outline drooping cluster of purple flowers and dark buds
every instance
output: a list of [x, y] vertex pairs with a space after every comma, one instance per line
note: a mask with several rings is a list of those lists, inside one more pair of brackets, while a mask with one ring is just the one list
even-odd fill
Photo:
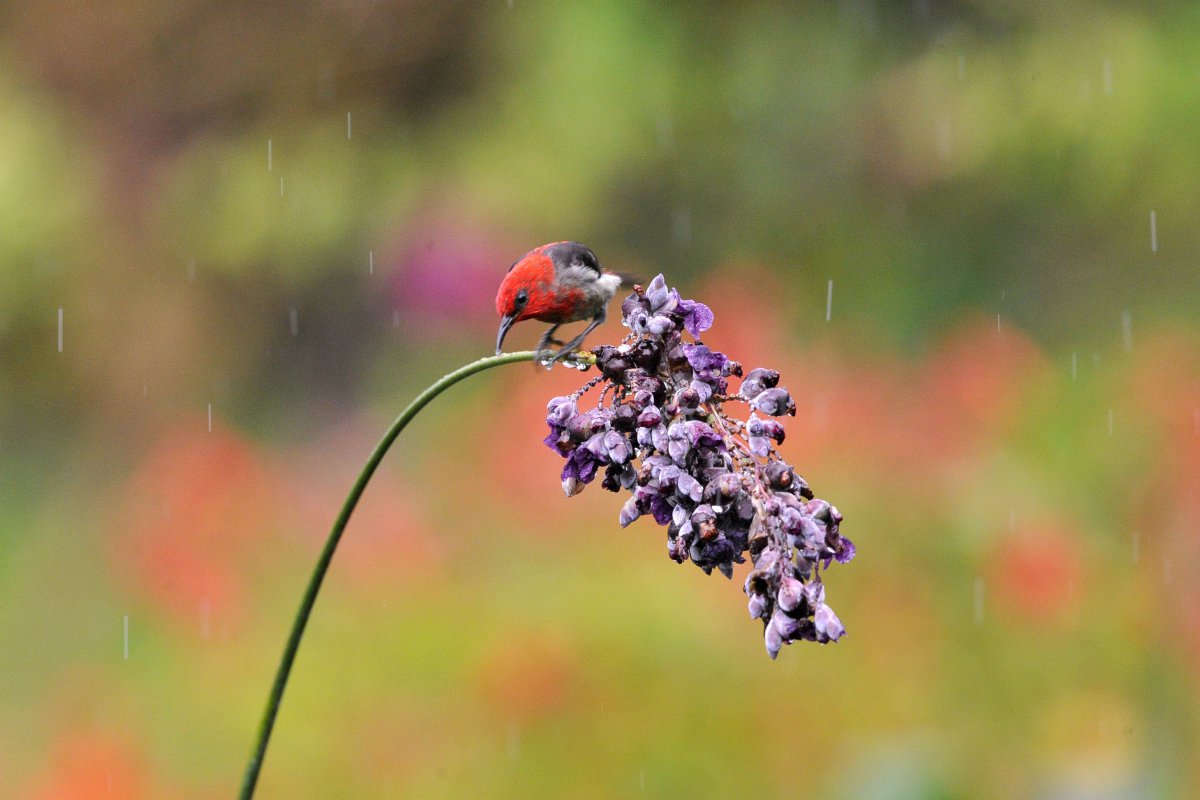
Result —
[[[772, 658], [791, 642], [839, 639], [845, 628], [826, 604], [821, 572], [850, 561], [854, 545], [839, 533], [838, 509], [814, 498], [775, 451], [784, 426], [774, 417], [796, 414], [779, 373], [743, 374], [701, 343], [713, 313], [661, 275], [635, 287], [622, 317], [629, 336], [588, 357], [600, 375], [547, 407], [546, 444], [566, 458], [563, 491], [577, 494], [602, 475], [604, 488], [631, 495], [623, 528], [653, 517], [667, 527], [667, 554], [706, 573], [732, 578], [749, 551], [744, 590]], [[601, 384], [595, 405], [581, 409], [584, 392]], [[731, 403], [744, 403], [748, 417], [727, 414]]]

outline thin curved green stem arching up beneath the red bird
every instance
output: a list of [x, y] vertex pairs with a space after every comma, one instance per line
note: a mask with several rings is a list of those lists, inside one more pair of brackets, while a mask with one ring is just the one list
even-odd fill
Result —
[[342, 539], [342, 531], [346, 530], [346, 523], [349, 522], [350, 515], [354, 512], [354, 507], [359, 504], [359, 498], [362, 497], [362, 492], [371, 481], [371, 476], [374, 475], [376, 468], [379, 467], [379, 462], [383, 461], [384, 453], [386, 453], [388, 449], [391, 447], [391, 443], [396, 440], [400, 432], [408, 426], [412, 419], [416, 416], [430, 401], [450, 386], [457, 384], [463, 378], [469, 378], [476, 372], [491, 369], [492, 367], [499, 367], [505, 363], [533, 360], [534, 353], [532, 350], [522, 353], [505, 353], [502, 355], [480, 359], [479, 361], [474, 361], [455, 369], [418, 395], [416, 399], [409, 403], [408, 408], [406, 408], [401, 415], [396, 417], [396, 421], [391, 423], [388, 432], [384, 433], [383, 438], [379, 440], [379, 444], [377, 444], [374, 450], [371, 452], [371, 457], [367, 459], [362, 471], [359, 473], [358, 480], [354, 481], [354, 487], [350, 488], [350, 493], [347, 495], [346, 503], [342, 504], [342, 511], [337, 515], [332, 530], [329, 531], [329, 539], [325, 541], [325, 547], [320, 551], [320, 558], [317, 559], [317, 566], [312, 571], [312, 577], [308, 578], [308, 587], [305, 589], [304, 599], [300, 601], [300, 610], [296, 612], [295, 621], [292, 622], [292, 632], [288, 634], [288, 643], [283, 648], [283, 657], [280, 658], [280, 667], [275, 673], [275, 682], [271, 685], [271, 693], [266, 698], [266, 710], [263, 712], [263, 721], [258, 726], [258, 738], [254, 742], [254, 752], [251, 754], [250, 763], [246, 765], [246, 775], [242, 778], [241, 793], [238, 795], [240, 800], [250, 800], [254, 796], [254, 787], [258, 783], [258, 772], [263, 766], [263, 757], [266, 754], [266, 744], [271, 739], [271, 729], [275, 727], [275, 717], [280, 711], [280, 702], [283, 699], [283, 690], [288, 684], [288, 675], [292, 673], [292, 663], [295, 661], [296, 650], [300, 649], [300, 638], [304, 636], [305, 626], [308, 624], [308, 615], [312, 613], [313, 603], [317, 602], [317, 593], [320, 591], [320, 584], [325, 579], [325, 572], [329, 570], [329, 563], [334, 558], [334, 551], [337, 548], [337, 542]]

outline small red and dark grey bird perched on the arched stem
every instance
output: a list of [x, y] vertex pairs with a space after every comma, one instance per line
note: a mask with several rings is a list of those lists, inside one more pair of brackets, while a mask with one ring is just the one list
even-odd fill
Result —
[[[500, 354], [514, 324], [540, 319], [551, 326], [538, 342], [538, 360], [542, 361], [551, 344], [560, 348], [548, 363], [566, 357], [604, 323], [608, 301], [623, 279], [624, 276], [601, 270], [596, 254], [576, 241], [552, 242], [529, 251], [509, 267], [496, 295], [496, 311], [500, 314], [496, 354]], [[592, 320], [582, 333], [565, 344], [554, 338], [559, 325], [581, 319]]]

